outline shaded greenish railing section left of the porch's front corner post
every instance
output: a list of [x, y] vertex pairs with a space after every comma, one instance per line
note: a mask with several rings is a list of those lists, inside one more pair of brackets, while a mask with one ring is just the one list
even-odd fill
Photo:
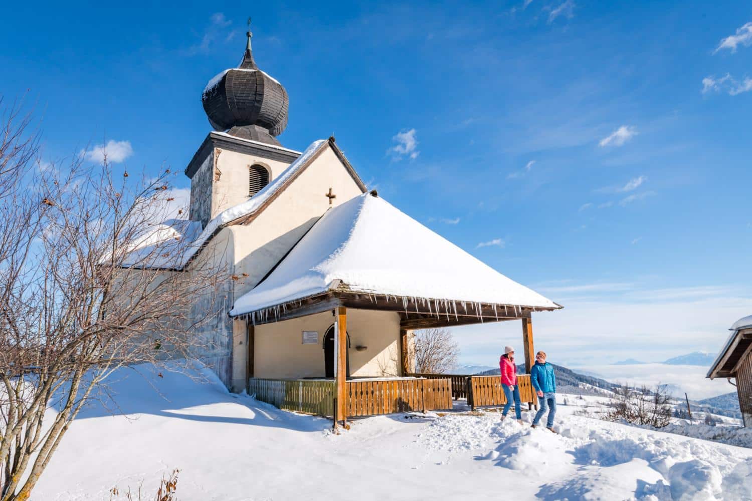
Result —
[[306, 379], [248, 379], [248, 394], [279, 409], [334, 415], [334, 382]]

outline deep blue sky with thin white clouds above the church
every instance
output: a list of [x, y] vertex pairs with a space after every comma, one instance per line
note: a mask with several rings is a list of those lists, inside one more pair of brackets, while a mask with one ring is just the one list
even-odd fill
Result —
[[[566, 306], [533, 321], [558, 361], [715, 352], [752, 313], [749, 2], [17, 4], [0, 94], [47, 158], [112, 140], [182, 171], [249, 15], [281, 142], [335, 134], [396, 207]], [[520, 330], [456, 330], [461, 361]]]

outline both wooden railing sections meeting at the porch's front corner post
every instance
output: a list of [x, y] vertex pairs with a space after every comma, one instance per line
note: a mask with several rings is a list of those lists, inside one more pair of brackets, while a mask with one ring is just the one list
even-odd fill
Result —
[[[248, 379], [248, 394], [280, 409], [334, 415], [334, 382], [307, 379]], [[452, 409], [449, 378], [357, 379], [347, 382], [347, 416]]]

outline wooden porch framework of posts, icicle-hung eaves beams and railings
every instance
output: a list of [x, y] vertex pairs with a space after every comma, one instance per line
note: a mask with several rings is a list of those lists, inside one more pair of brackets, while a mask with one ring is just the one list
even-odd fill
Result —
[[[508, 306], [490, 303], [455, 303], [394, 297], [384, 294], [362, 294], [335, 284], [324, 294], [285, 303], [283, 308], [266, 308], [238, 315], [247, 321], [249, 365], [248, 394], [259, 400], [299, 412], [331, 416], [333, 424], [346, 424], [347, 418], [378, 415], [405, 410], [452, 409], [452, 398], [464, 395], [472, 408], [498, 406], [505, 403], [499, 376], [465, 376], [465, 382], [448, 375], [416, 375], [416, 378], [373, 379], [371, 382], [347, 380], [347, 309], [369, 309], [399, 313], [399, 374], [411, 373], [408, 336], [411, 330], [429, 327], [451, 327], [481, 322], [521, 321], [522, 345], [526, 375], [520, 378], [520, 398], [529, 406], [538, 399], [530, 385], [529, 373], [534, 361], [532, 312], [547, 308]], [[254, 328], [258, 325], [284, 321], [332, 311], [334, 321], [334, 380], [255, 379], [253, 378]], [[460, 376], [462, 377], [462, 376]], [[396, 383], [395, 383], [396, 382]], [[463, 389], [464, 388], [464, 389]]]

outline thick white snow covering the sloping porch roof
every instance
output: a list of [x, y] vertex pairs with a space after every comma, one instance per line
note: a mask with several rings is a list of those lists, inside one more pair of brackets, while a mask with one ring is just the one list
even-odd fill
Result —
[[244, 315], [329, 291], [559, 309], [444, 237], [364, 193], [330, 209], [229, 312]]

